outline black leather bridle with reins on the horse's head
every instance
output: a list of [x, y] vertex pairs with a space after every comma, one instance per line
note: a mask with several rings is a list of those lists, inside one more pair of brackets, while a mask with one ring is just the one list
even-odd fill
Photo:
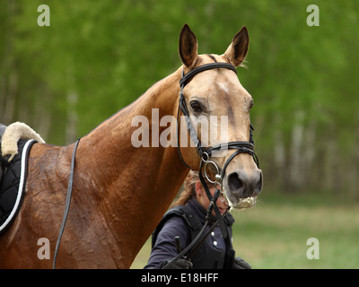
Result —
[[[206, 237], [208, 236], [210, 231], [215, 228], [215, 225], [217, 224], [217, 222], [220, 225], [220, 228], [221, 228], [221, 231], [223, 234], [223, 238], [224, 239], [227, 238], [228, 234], [227, 234], [227, 230], [225, 228], [225, 223], [223, 222], [223, 217], [224, 217], [225, 213], [229, 210], [230, 206], [227, 208], [226, 212], [223, 213], [223, 215], [221, 215], [221, 213], [218, 209], [218, 206], [215, 203], [216, 203], [218, 197], [220, 197], [219, 196], [220, 194], [223, 194], [225, 196], [225, 194], [223, 193], [223, 178], [225, 175], [225, 170], [227, 169], [229, 163], [234, 159], [234, 157], [240, 153], [249, 153], [253, 157], [253, 160], [256, 162], [257, 166], [259, 167], [258, 157], [257, 157], [257, 154], [254, 152], [254, 141], [253, 141], [253, 133], [252, 133], [254, 128], [251, 124], [250, 124], [250, 142], [236, 141], [236, 142], [229, 142], [229, 143], [221, 143], [221, 144], [217, 144], [215, 146], [210, 146], [207, 149], [205, 149], [202, 146], [200, 140], [198, 139], [196, 129], [192, 125], [192, 122], [189, 117], [186, 100], [183, 95], [183, 89], [188, 84], [189, 80], [192, 79], [196, 74], [199, 74], [201, 72], [211, 70], [211, 69], [229, 69], [229, 70], [232, 70], [235, 74], [237, 74], [236, 68], [233, 65], [227, 64], [227, 63], [210, 63], [210, 64], [206, 64], [206, 65], [201, 65], [201, 66], [198, 66], [197, 68], [191, 70], [190, 72], [188, 72], [188, 74], [184, 74], [184, 70], [182, 70], [182, 77], [180, 79], [179, 109], [177, 112], [177, 148], [178, 148], [178, 152], [180, 154], [181, 161], [188, 167], [189, 170], [192, 170], [188, 166], [186, 161], [183, 159], [183, 156], [180, 152], [180, 136], [179, 136], [179, 133], [180, 133], [180, 131], [179, 131], [180, 130], [180, 128], [179, 128], [179, 126], [180, 126], [180, 111], [182, 112], [183, 116], [185, 117], [188, 134], [189, 134], [192, 142], [195, 143], [198, 155], [201, 158], [201, 161], [199, 164], [198, 176], [199, 176], [199, 179], [200, 179], [203, 187], [205, 188], [206, 196], [208, 196], [208, 199], [210, 201], [210, 204], [209, 204], [209, 207], [207, 210], [207, 215], [206, 215], [206, 223], [203, 226], [202, 230], [197, 235], [196, 239], [194, 239], [188, 245], [187, 248], [182, 250], [177, 257], [174, 257], [171, 260], [171, 262], [168, 265], [166, 265], [167, 267], [169, 267], [171, 263], [179, 260], [181, 257], [186, 256], [187, 258], [190, 258], [193, 255], [193, 253], [197, 250], [197, 248], [200, 246], [200, 244], [202, 244], [204, 242], [204, 240], [206, 239]], [[233, 152], [232, 155], [227, 159], [227, 161], [224, 162], [222, 172], [220, 172], [220, 169], [217, 166], [217, 164], [215, 163], [215, 161], [211, 161], [210, 158], [211, 158], [212, 152], [223, 151], [223, 150], [227, 150], [227, 149], [232, 149], [232, 150], [236, 150], [236, 151]], [[206, 172], [208, 164], [212, 164], [215, 167], [215, 170], [217, 172], [215, 175], [215, 180], [209, 178], [209, 176]], [[211, 193], [209, 191], [209, 187], [206, 184], [206, 180], [203, 177], [203, 173], [202, 173], [203, 167], [204, 167], [206, 179], [215, 185], [215, 195], [214, 196], [211, 195]], [[220, 188], [217, 188], [217, 187], [220, 187]], [[215, 211], [215, 217], [216, 217], [217, 221], [215, 222], [215, 224], [213, 224], [213, 226], [210, 228], [210, 230], [208, 230], [205, 233], [205, 229], [209, 224], [210, 215], [213, 210]], [[163, 268], [166, 268], [166, 266], [164, 266]]]

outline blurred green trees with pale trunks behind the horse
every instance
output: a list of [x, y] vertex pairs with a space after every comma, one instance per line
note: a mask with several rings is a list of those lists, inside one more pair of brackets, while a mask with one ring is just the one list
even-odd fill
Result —
[[[319, 27], [306, 23], [309, 4]], [[0, 122], [72, 143], [180, 66], [185, 22], [199, 52], [214, 54], [246, 25], [239, 78], [256, 103], [265, 191], [357, 199], [358, 11], [355, 0], [1, 0]]]

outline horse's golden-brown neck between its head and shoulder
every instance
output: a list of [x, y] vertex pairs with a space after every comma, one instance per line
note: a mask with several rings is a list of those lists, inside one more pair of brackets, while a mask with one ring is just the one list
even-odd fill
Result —
[[[121, 244], [138, 252], [178, 193], [188, 169], [176, 147], [139, 147], [131, 143], [138, 128], [132, 119], [144, 116], [151, 123], [153, 109], [159, 118], [175, 116], [180, 92], [179, 69], [155, 83], [142, 97], [85, 136], [79, 144], [76, 169], [106, 211]], [[153, 122], [153, 125], [156, 123]], [[152, 126], [153, 127], [153, 126]], [[162, 129], [160, 127], [159, 134]], [[176, 128], [172, 125], [171, 128]], [[153, 129], [150, 128], [150, 137]], [[152, 141], [150, 141], [152, 144]], [[76, 163], [77, 164], [77, 163]], [[128, 224], [130, 222], [130, 224]], [[120, 235], [119, 235], [120, 233]], [[123, 248], [126, 249], [126, 248]]]

